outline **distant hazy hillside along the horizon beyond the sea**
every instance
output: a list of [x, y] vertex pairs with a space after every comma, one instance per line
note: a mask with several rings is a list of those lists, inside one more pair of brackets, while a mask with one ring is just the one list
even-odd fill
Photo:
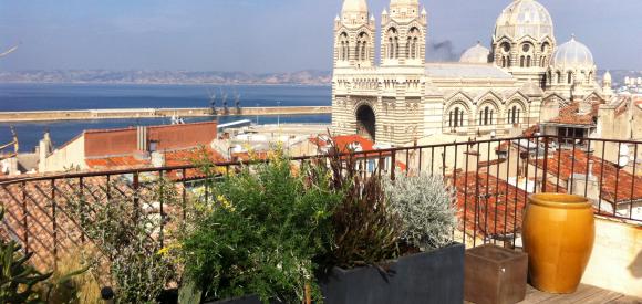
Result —
[[89, 84], [306, 84], [329, 85], [331, 72], [250, 74], [244, 72], [187, 71], [19, 71], [1, 72], [0, 83], [89, 83]]

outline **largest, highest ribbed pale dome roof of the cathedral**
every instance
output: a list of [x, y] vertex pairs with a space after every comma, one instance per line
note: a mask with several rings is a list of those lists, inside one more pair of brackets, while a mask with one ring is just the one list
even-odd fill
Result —
[[550, 13], [536, 0], [515, 0], [501, 11], [495, 25], [495, 40], [505, 35], [514, 40], [525, 36], [555, 39]]

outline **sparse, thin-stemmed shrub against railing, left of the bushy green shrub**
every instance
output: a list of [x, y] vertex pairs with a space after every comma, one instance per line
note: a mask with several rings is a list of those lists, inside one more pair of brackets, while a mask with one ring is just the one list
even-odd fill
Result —
[[[102, 253], [91, 261], [92, 272], [114, 285], [120, 303], [154, 303], [176, 277], [177, 265], [172, 256], [159, 254], [163, 248], [155, 234], [163, 220], [151, 203], [163, 201], [166, 210], [175, 208], [180, 201], [176, 188], [165, 179], [149, 180], [137, 192], [124, 180], [100, 187], [108, 196], [96, 201], [95, 193], [77, 190], [68, 195], [73, 199], [65, 206]], [[167, 228], [165, 233], [169, 240]]]

